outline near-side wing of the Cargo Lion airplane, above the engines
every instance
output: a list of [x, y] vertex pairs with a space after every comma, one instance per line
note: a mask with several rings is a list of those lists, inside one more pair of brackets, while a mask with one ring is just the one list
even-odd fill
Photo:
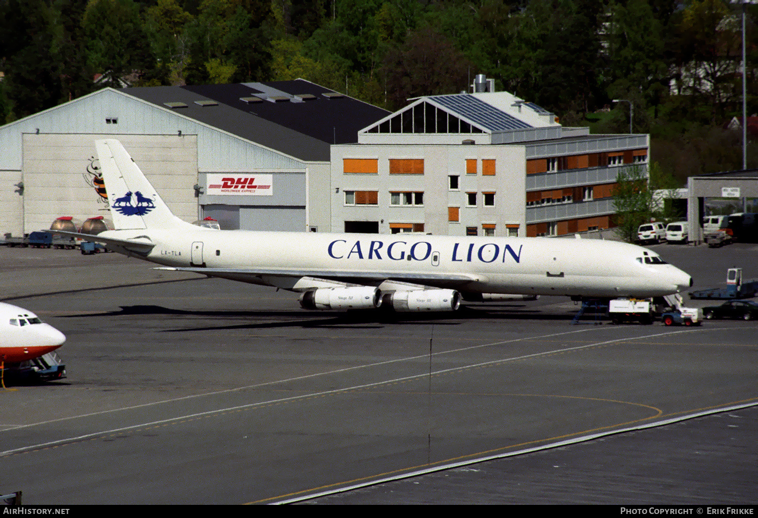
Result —
[[[470, 282], [480, 282], [484, 279], [478, 275], [467, 275], [465, 273], [428, 273], [428, 272], [376, 272], [366, 270], [287, 270], [284, 268], [192, 268], [192, 267], [158, 267], [154, 270], [173, 270], [177, 272], [202, 273], [207, 276], [218, 277], [287, 277], [287, 278], [312, 278], [318, 282], [318, 279], [332, 280], [338, 282], [352, 282], [360, 285], [378, 285], [385, 280], [398, 280], [402, 282], [412, 282], [415, 284], [428, 286], [465, 286]], [[318, 287], [314, 285], [314, 287]], [[300, 289], [306, 286], [299, 284]]]

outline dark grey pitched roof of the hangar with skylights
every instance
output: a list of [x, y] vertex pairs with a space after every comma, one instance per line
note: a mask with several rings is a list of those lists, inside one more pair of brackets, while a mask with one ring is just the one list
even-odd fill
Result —
[[[329, 161], [331, 144], [358, 142], [358, 130], [390, 114], [305, 80], [122, 91], [302, 161]], [[246, 102], [240, 98], [263, 100]], [[202, 106], [196, 101], [218, 104], [206, 102]], [[186, 107], [169, 108], [165, 103], [170, 102]]]

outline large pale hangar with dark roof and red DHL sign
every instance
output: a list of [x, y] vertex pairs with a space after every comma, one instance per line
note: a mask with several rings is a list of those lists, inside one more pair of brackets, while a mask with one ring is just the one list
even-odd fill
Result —
[[102, 138], [121, 140], [183, 220], [329, 230], [330, 145], [387, 114], [305, 80], [102, 89], [0, 126], [0, 231], [107, 217], [92, 163]]

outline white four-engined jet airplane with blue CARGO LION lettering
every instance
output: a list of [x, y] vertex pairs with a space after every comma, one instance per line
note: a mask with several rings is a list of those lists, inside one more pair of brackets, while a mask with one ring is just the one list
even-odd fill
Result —
[[461, 296], [653, 297], [692, 285], [653, 251], [621, 242], [202, 228], [171, 214], [121, 142], [95, 145], [116, 229], [57, 233], [104, 243], [163, 270], [299, 292], [306, 309], [384, 303], [399, 311], [456, 310]]

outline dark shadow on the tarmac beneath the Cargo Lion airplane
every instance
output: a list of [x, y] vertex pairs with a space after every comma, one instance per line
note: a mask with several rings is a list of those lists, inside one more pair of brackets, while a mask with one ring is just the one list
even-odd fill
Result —
[[[524, 304], [486, 305], [486, 306], [462, 306], [460, 310], [453, 312], [429, 312], [429, 313], [396, 313], [392, 310], [347, 310], [337, 314], [324, 314], [322, 311], [309, 310], [261, 310], [261, 311], [224, 311], [224, 310], [177, 310], [158, 305], [134, 305], [121, 306], [121, 310], [77, 315], [77, 317], [124, 317], [127, 315], [175, 315], [186, 316], [187, 320], [194, 318], [240, 320], [244, 318], [274, 319], [273, 322], [261, 323], [236, 323], [232, 325], [199, 326], [183, 329], [164, 329], [162, 332], [188, 332], [188, 331], [211, 331], [217, 329], [262, 329], [277, 327], [302, 327], [302, 328], [344, 328], [352, 329], [380, 329], [385, 324], [416, 325], [436, 323], [446, 326], [457, 326], [459, 320], [572, 320], [573, 314], [542, 314], [540, 310], [525, 309]], [[584, 317], [593, 319], [593, 315]], [[289, 320], [295, 319], [295, 320]]]

